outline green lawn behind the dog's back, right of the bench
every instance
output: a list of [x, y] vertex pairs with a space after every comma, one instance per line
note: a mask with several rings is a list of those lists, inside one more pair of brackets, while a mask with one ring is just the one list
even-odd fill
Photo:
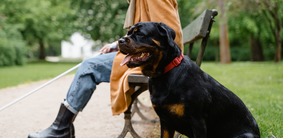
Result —
[[[234, 92], [250, 110], [262, 138], [283, 137], [283, 64], [204, 62], [201, 69]], [[183, 138], [185, 138], [183, 136]]]

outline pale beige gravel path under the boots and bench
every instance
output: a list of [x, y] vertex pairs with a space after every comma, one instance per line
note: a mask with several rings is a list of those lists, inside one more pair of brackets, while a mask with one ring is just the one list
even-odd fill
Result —
[[[0, 138], [26, 138], [49, 127], [55, 120], [60, 103], [64, 101], [74, 75], [64, 76], [43, 89], [22, 99], [0, 112]], [[0, 107], [28, 93], [46, 81], [39, 81], [0, 90]], [[145, 105], [151, 106], [148, 91], [139, 96]], [[112, 116], [110, 84], [97, 86], [89, 103], [75, 119], [76, 138], [116, 138], [124, 128], [124, 114]], [[158, 118], [152, 109], [144, 109], [148, 118]], [[135, 114], [133, 128], [142, 137], [159, 137], [159, 124], [144, 123]], [[130, 138], [128, 133], [127, 138]]]

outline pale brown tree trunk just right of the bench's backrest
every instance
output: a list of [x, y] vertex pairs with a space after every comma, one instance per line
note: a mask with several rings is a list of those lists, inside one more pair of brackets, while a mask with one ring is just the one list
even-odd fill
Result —
[[228, 30], [227, 30], [227, 18], [225, 14], [225, 0], [217, 0], [217, 4], [220, 8], [221, 14], [219, 16], [219, 44], [220, 44], [220, 61], [221, 64], [231, 63], [230, 57], [230, 44], [228, 40]]

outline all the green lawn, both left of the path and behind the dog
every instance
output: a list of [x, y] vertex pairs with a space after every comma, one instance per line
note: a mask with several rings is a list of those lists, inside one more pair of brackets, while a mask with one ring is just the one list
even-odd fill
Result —
[[[77, 64], [40, 62], [1, 67], [0, 89], [53, 78]], [[256, 119], [262, 138], [271, 137], [271, 131], [276, 138], [283, 137], [283, 63], [204, 62], [201, 69], [242, 99]]]

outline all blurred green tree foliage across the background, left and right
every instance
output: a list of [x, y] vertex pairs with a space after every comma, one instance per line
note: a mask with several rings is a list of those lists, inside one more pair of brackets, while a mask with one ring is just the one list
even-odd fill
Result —
[[[177, 2], [182, 28], [196, 19], [205, 9], [219, 9], [216, 0], [177, 0]], [[282, 1], [278, 3], [282, 24]], [[60, 55], [61, 41], [68, 41], [74, 32], [80, 32], [84, 37], [95, 40], [93, 50], [98, 50], [106, 43], [112, 43], [126, 34], [127, 30], [123, 29], [123, 24], [128, 6], [126, 0], [2, 0], [0, 16], [5, 20], [0, 23], [0, 28], [3, 30], [4, 23], [12, 24], [16, 28], [15, 31], [21, 32], [22, 37], [13, 39], [19, 43], [25, 42], [23, 45], [29, 46], [24, 48], [29, 51], [29, 58], [39, 57], [40, 43], [44, 45], [45, 55]], [[273, 60], [275, 39], [267, 17], [263, 14], [262, 3], [252, 0], [227, 0], [225, 9], [227, 9], [225, 16], [228, 18], [232, 60], [250, 60], [250, 36], [260, 40], [265, 59]], [[272, 18], [270, 14], [267, 16]], [[215, 60], [215, 52], [219, 52], [219, 15], [215, 20], [204, 60]], [[271, 26], [274, 27], [274, 24]], [[4, 43], [4, 40], [2, 41], [1, 43]], [[193, 48], [192, 59], [198, 53], [198, 45], [200, 42]], [[185, 53], [186, 49], [187, 47]], [[5, 55], [15, 54], [13, 50], [8, 51], [11, 53]]]

